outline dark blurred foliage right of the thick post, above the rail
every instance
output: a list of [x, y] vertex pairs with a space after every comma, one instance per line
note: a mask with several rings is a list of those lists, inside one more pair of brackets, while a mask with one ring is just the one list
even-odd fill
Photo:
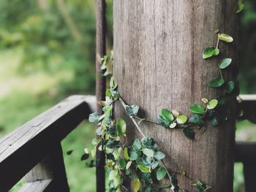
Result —
[[239, 13], [238, 79], [241, 93], [256, 93], [256, 1], [244, 5]]

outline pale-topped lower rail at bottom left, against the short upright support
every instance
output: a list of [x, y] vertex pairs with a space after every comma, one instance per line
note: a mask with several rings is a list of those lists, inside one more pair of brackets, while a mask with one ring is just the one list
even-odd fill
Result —
[[26, 183], [19, 192], [50, 192], [50, 185], [52, 182], [52, 180], [39, 180], [31, 183]]

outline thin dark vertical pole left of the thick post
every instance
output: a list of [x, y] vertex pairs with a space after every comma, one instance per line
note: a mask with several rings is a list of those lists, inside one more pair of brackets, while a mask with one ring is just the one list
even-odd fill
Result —
[[[96, 10], [96, 96], [97, 101], [105, 101], [106, 79], [103, 76], [101, 58], [106, 54], [106, 18], [105, 0], [97, 0]], [[97, 104], [97, 112], [102, 112], [102, 107]], [[105, 191], [105, 153], [97, 150], [96, 185], [97, 192]]]

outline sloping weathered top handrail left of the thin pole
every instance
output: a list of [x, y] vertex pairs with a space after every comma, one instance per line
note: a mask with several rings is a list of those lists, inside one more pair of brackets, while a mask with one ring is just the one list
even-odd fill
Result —
[[91, 110], [84, 99], [70, 96], [0, 139], [0, 191], [15, 185], [56, 142], [89, 117]]

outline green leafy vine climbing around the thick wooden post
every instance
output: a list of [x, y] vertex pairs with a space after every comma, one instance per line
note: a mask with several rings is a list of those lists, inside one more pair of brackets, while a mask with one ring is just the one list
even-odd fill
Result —
[[[234, 12], [238, 13], [244, 8], [242, 0], [238, 0]], [[217, 45], [206, 47], [203, 50], [203, 58], [211, 58], [219, 55], [219, 42], [233, 42], [233, 38], [228, 34], [214, 31], [217, 34]], [[177, 110], [162, 109], [157, 116], [156, 121], [148, 120], [138, 116], [140, 107], [138, 105], [128, 105], [117, 91], [117, 84], [111, 76], [113, 67], [113, 55], [104, 56], [102, 58], [101, 69], [105, 70], [105, 76], [109, 75], [109, 88], [106, 91], [106, 101], [98, 101], [102, 105], [102, 113], [94, 112], [89, 116], [89, 121], [97, 123], [97, 138], [92, 140], [94, 149], [91, 155], [96, 154], [96, 150], [103, 150], [106, 156], [106, 167], [108, 168], [108, 190], [113, 191], [145, 191], [155, 192], [162, 191], [165, 188], [170, 191], [179, 191], [178, 180], [176, 175], [180, 174], [190, 180], [190, 185], [195, 186], [197, 191], [208, 191], [210, 185], [203, 183], [200, 179], [192, 179], [188, 176], [184, 169], [169, 170], [165, 166], [165, 153], [158, 150], [157, 143], [153, 138], [147, 137], [140, 123], [154, 123], [164, 128], [182, 129], [184, 136], [192, 140], [195, 138], [195, 131], [201, 133], [205, 131], [204, 124], [210, 121], [211, 126], [216, 127], [219, 123], [225, 123], [229, 116], [227, 111], [227, 98], [231, 94], [237, 95], [238, 89], [233, 80], [226, 81], [222, 71], [230, 66], [231, 58], [223, 58], [217, 68], [219, 77], [208, 82], [211, 88], [219, 88], [222, 95], [217, 99], [208, 100], [201, 99], [203, 104], [192, 104], [189, 110], [192, 116], [187, 118]], [[132, 145], [127, 145], [124, 138], [127, 137], [127, 125], [123, 118], [117, 120], [113, 115], [113, 108], [116, 101], [121, 103], [125, 112], [135, 128], [140, 132], [141, 139], [135, 139]], [[121, 140], [123, 142], [121, 142]], [[86, 150], [87, 152], [87, 150]], [[88, 152], [87, 152], [88, 153]], [[124, 185], [124, 178], [132, 181], [132, 187], [128, 188]], [[168, 181], [165, 179], [167, 178]], [[164, 180], [164, 184], [160, 185], [159, 181]]]

